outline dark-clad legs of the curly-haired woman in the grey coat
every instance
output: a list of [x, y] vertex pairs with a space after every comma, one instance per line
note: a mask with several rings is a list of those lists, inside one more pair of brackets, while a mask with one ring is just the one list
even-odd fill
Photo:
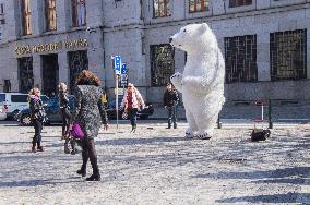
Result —
[[97, 161], [97, 153], [95, 148], [94, 138], [83, 138], [82, 140], [82, 159], [83, 164], [81, 170], [86, 171], [86, 165], [88, 159], [91, 160], [91, 165], [93, 168], [93, 174], [99, 174], [98, 161]]

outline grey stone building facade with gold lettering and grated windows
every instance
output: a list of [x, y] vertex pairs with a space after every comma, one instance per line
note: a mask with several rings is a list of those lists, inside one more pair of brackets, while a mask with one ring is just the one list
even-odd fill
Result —
[[[169, 37], [206, 22], [225, 56], [227, 100], [310, 99], [310, 0], [2, 1], [0, 91], [5, 81], [12, 92], [38, 85], [51, 94], [58, 82], [72, 84], [90, 69], [114, 98], [111, 56], [120, 55], [146, 101], [162, 102], [169, 75], [186, 63]], [[56, 23], [47, 23], [47, 8]], [[31, 34], [24, 31], [27, 17]]]

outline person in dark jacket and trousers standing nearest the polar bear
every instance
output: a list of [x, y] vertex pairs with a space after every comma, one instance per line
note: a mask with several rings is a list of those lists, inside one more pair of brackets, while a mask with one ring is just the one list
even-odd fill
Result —
[[164, 106], [168, 110], [168, 129], [177, 129], [177, 106], [179, 104], [179, 95], [177, 89], [171, 83], [167, 83], [167, 87], [164, 94]]

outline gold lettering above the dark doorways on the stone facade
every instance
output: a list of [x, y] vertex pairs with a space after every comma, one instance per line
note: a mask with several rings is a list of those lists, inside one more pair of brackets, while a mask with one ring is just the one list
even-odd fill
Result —
[[87, 47], [87, 39], [73, 39], [68, 41], [50, 43], [50, 44], [37, 44], [34, 46], [15, 46], [14, 50], [17, 56], [36, 53], [36, 52], [50, 52], [61, 49], [74, 49]]

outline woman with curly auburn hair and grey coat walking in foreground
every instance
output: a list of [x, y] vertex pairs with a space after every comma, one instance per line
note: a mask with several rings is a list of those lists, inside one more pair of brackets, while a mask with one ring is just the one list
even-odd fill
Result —
[[[91, 71], [83, 70], [78, 76], [75, 91], [75, 108], [73, 121], [82, 128], [85, 137], [81, 140], [82, 167], [76, 172], [86, 176], [86, 165], [88, 159], [93, 168], [93, 174], [86, 181], [100, 181], [100, 173], [97, 164], [97, 153], [95, 148], [95, 137], [98, 135], [102, 123], [108, 130], [107, 114], [102, 102], [102, 88], [99, 79]], [[72, 129], [72, 124], [71, 124]]]

